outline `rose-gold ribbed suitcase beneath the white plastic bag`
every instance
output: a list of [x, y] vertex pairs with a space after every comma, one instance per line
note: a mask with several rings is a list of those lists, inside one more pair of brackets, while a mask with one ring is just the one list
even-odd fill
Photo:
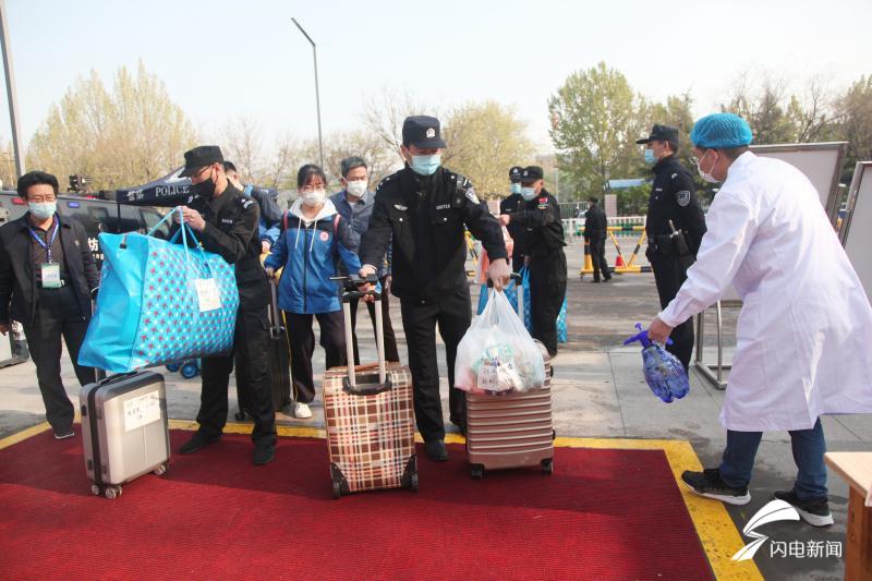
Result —
[[467, 457], [474, 479], [482, 479], [485, 469], [540, 467], [546, 474], [554, 470], [554, 370], [548, 350], [535, 343], [545, 361], [542, 389], [505, 396], [467, 394]]

